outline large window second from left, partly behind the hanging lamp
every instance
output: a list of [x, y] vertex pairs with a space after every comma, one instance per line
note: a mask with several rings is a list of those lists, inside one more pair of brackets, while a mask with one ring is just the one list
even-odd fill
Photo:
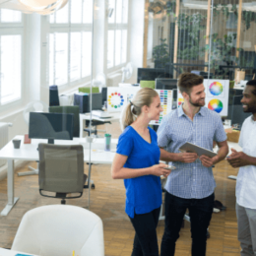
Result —
[[93, 0], [71, 0], [50, 16], [49, 85], [84, 82], [92, 71]]

